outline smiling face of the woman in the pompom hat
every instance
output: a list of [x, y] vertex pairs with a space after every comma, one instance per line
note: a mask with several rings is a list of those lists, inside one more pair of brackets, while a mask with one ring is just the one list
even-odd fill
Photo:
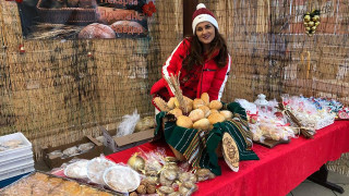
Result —
[[215, 38], [215, 27], [209, 22], [202, 22], [196, 25], [195, 29], [196, 36], [198, 40], [203, 45], [210, 44], [212, 40]]

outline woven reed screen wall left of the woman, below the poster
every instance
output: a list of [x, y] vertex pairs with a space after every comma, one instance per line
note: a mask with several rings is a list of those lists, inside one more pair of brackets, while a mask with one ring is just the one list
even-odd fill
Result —
[[183, 37], [181, 1], [155, 4], [147, 38], [26, 40], [16, 3], [1, 0], [0, 135], [23, 132], [39, 158], [43, 145], [98, 135], [97, 124], [115, 125], [135, 109], [154, 115], [149, 88]]

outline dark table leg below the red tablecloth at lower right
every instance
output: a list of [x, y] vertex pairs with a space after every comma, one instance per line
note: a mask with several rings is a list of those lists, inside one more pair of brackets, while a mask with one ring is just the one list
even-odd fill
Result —
[[322, 185], [324, 187], [327, 187], [332, 191], [338, 192], [340, 194], [345, 193], [344, 188], [341, 186], [338, 186], [337, 184], [330, 183], [327, 181], [328, 170], [326, 164], [322, 166], [318, 171], [313, 173], [308, 177], [308, 180]]

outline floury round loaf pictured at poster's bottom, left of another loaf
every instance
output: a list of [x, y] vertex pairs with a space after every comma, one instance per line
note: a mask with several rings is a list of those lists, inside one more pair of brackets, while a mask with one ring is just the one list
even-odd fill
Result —
[[80, 33], [79, 33], [80, 39], [93, 39], [93, 38], [116, 38], [116, 33], [112, 28], [108, 25], [99, 24], [99, 23], [93, 23], [87, 26], [85, 26]]

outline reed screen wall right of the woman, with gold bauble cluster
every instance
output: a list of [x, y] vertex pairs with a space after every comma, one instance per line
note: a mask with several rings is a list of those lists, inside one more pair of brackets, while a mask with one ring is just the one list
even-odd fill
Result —
[[[263, 93], [326, 96], [349, 103], [349, 2], [346, 0], [202, 0], [218, 17], [232, 54], [225, 101]], [[315, 36], [303, 14], [321, 10]], [[309, 56], [310, 54], [310, 56]], [[303, 61], [302, 61], [303, 59]], [[328, 162], [349, 175], [349, 154]]]

